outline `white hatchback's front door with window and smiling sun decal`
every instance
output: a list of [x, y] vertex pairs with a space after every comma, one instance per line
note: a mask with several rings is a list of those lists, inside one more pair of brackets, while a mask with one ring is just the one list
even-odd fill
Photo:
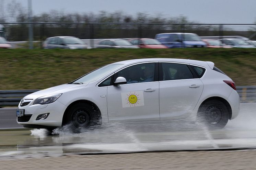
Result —
[[136, 64], [119, 70], [126, 84], [107, 88], [109, 122], [160, 120], [158, 63]]

